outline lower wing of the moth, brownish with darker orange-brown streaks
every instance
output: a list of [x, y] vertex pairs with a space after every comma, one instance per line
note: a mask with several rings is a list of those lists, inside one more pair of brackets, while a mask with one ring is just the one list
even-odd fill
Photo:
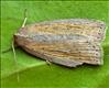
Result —
[[15, 36], [15, 41], [28, 53], [41, 57], [43, 59], [68, 66], [75, 67], [84, 63], [100, 65], [101, 61], [101, 47], [97, 43], [87, 42], [87, 37], [73, 35], [72, 40], [61, 37], [62, 41], [55, 38], [58, 36], [45, 36], [25, 38], [22, 36]]

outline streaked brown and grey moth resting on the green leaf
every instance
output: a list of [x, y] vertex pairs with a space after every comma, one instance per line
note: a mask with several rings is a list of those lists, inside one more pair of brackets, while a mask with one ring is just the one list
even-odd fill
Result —
[[58, 65], [102, 65], [105, 35], [102, 21], [65, 19], [25, 25], [14, 34], [14, 43], [25, 52]]

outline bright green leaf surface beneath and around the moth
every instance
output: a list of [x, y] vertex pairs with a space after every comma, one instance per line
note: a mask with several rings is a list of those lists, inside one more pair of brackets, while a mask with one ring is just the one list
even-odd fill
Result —
[[[11, 47], [13, 34], [21, 28], [24, 9], [28, 23], [56, 19], [98, 19], [109, 26], [109, 1], [1, 1], [1, 51]], [[2, 88], [108, 88], [109, 29], [102, 43], [102, 66], [83, 65], [67, 68], [46, 65], [37, 57], [15, 48], [18, 67], [12, 51], [1, 54]], [[19, 81], [18, 76], [19, 75]]]

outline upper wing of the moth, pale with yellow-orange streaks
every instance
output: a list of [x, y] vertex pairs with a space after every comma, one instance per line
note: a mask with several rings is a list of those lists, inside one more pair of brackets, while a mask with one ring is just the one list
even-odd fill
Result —
[[19, 32], [23, 32], [26, 35], [36, 33], [84, 35], [90, 41], [101, 42], [105, 38], [106, 24], [99, 20], [87, 19], [55, 20], [31, 24]]

